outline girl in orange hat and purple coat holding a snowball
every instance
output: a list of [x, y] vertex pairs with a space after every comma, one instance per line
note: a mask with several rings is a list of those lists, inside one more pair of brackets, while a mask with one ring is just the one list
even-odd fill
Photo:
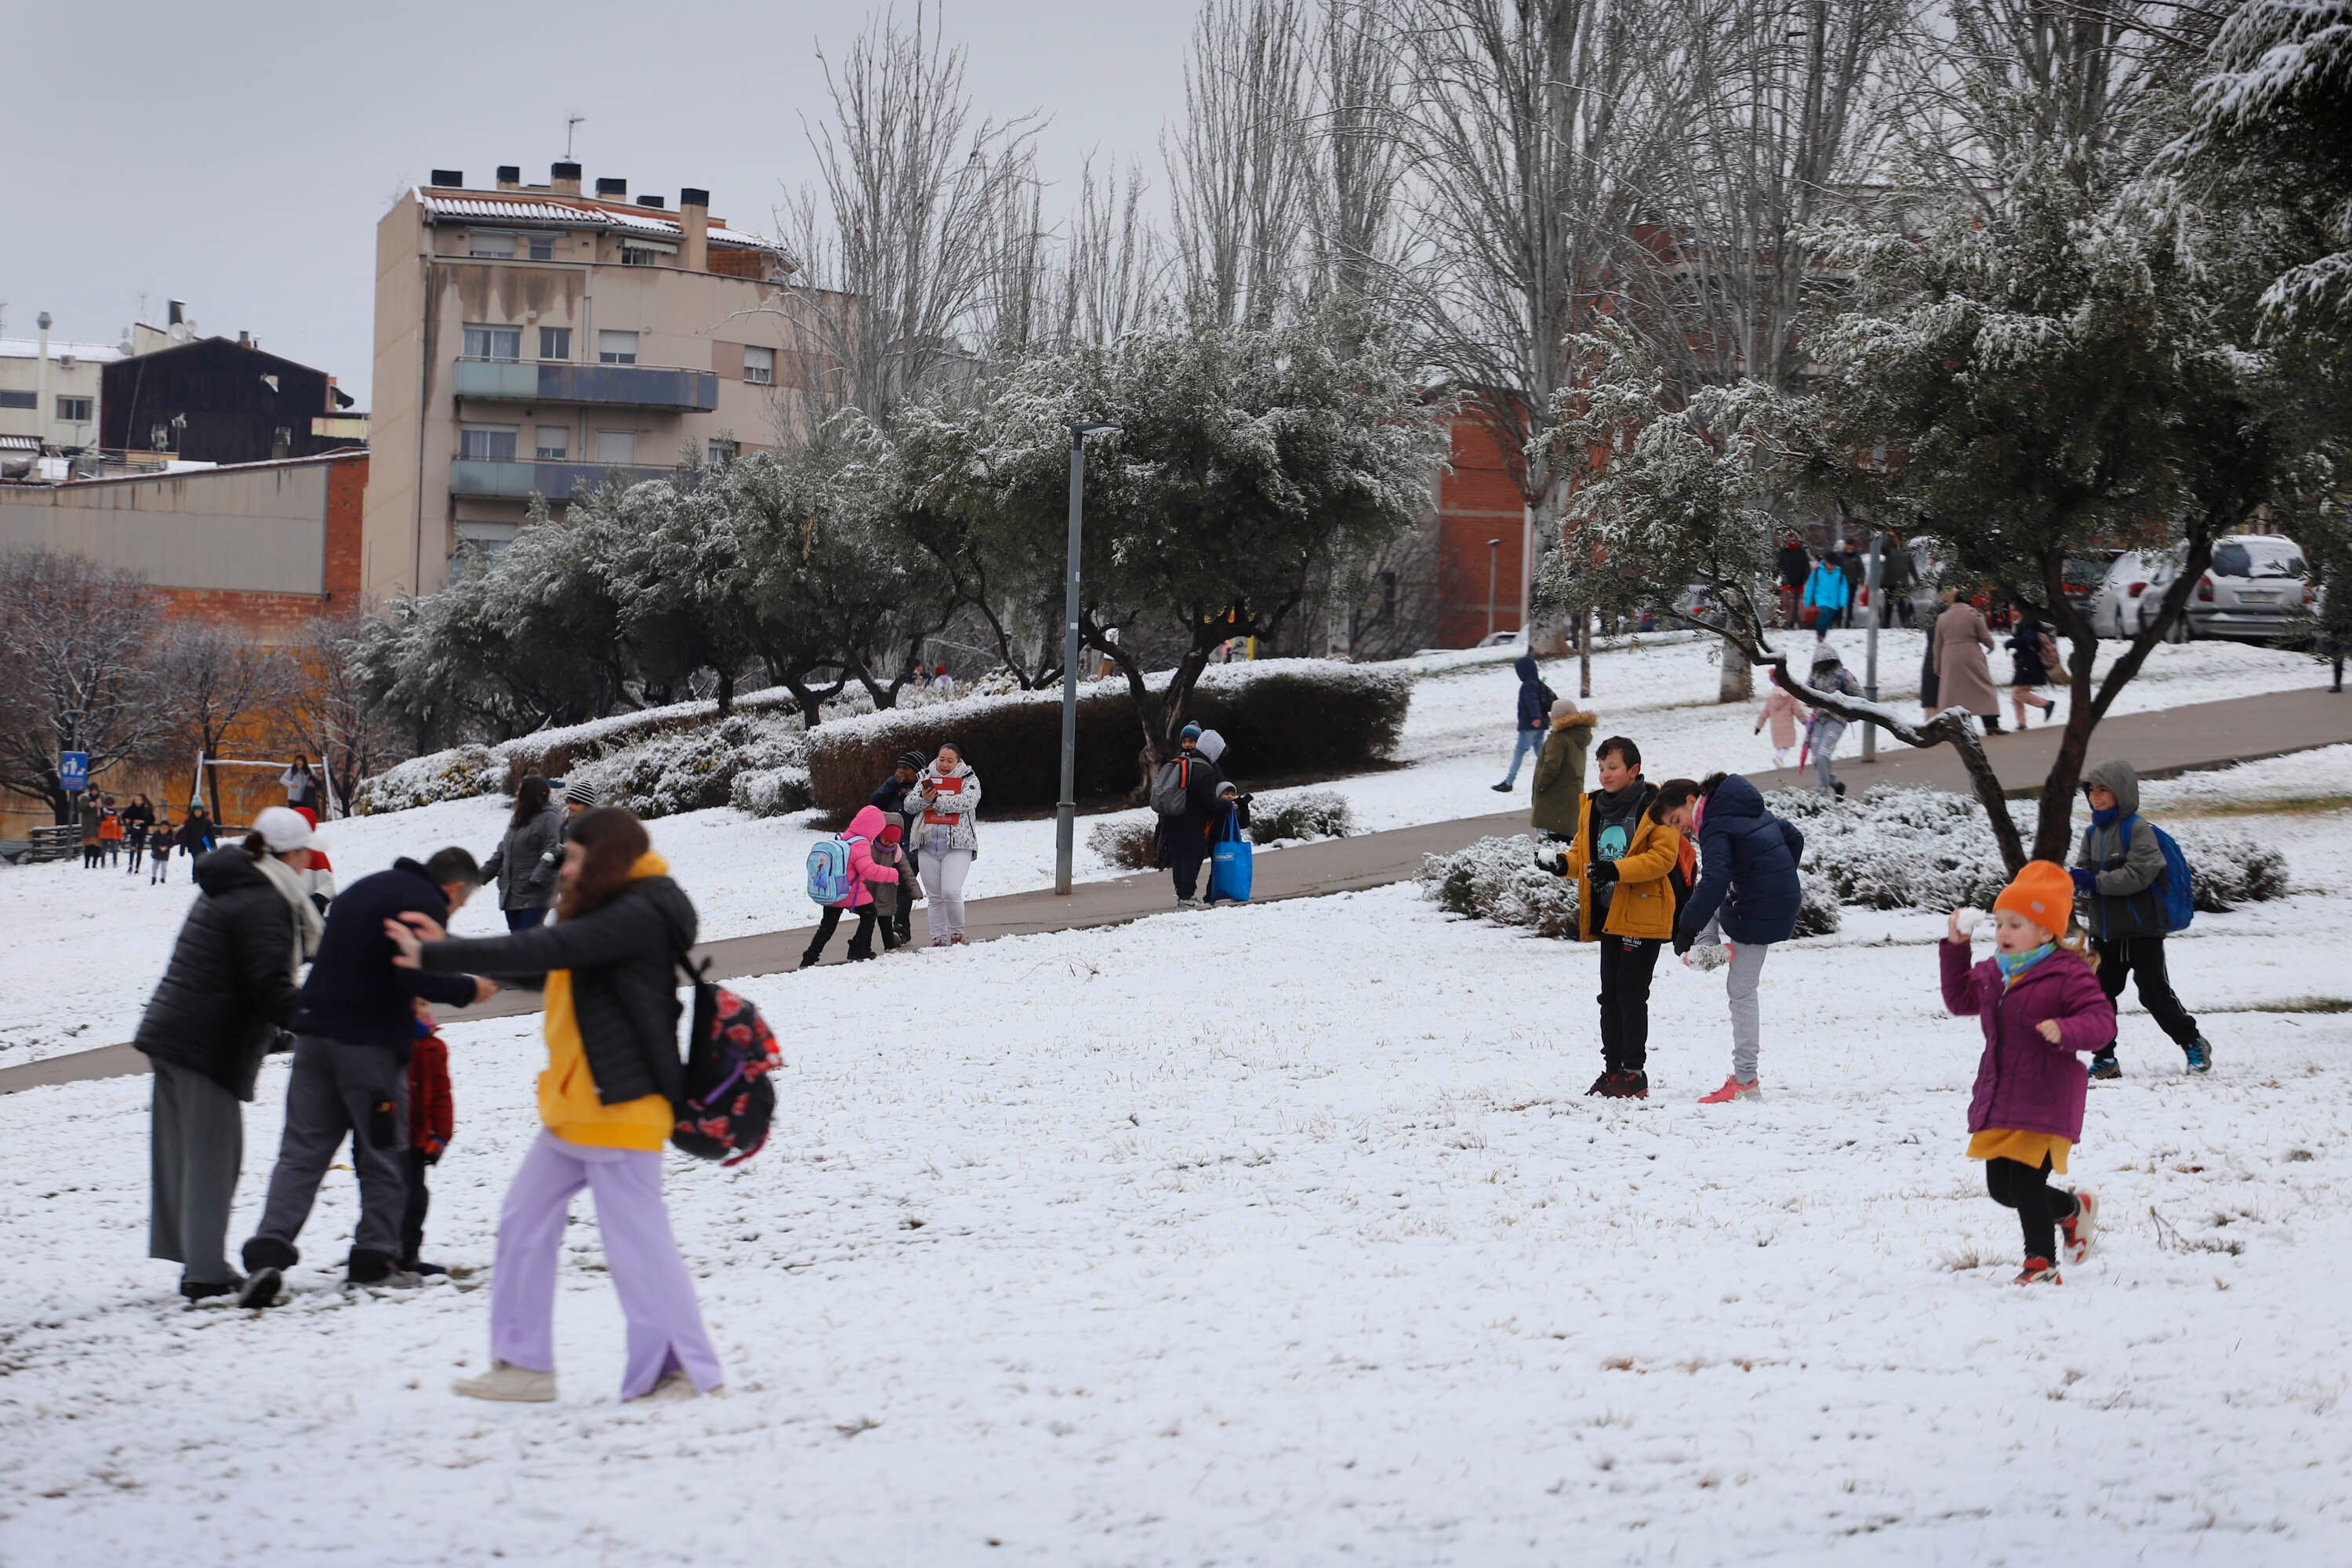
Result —
[[2098, 1199], [2049, 1185], [2065, 1175], [2082, 1138], [2079, 1051], [2114, 1037], [2114, 1004], [2098, 985], [2074, 929], [2074, 882], [2056, 860], [2027, 860], [1992, 900], [1992, 957], [1971, 969], [1976, 910], [1952, 910], [1943, 961], [1943, 1004], [1985, 1027], [1985, 1056], [1969, 1098], [1969, 1159], [1985, 1161], [1992, 1201], [2018, 1211], [2025, 1269], [2016, 1284], [2058, 1284], [2058, 1232], [2067, 1262], [2091, 1253]]

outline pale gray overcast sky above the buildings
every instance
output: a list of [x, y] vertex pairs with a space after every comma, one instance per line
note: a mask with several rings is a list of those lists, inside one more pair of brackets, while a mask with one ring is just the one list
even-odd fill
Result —
[[[769, 230], [779, 188], [811, 176], [816, 45], [840, 54], [866, 9], [21, 0], [0, 45], [0, 320], [33, 336], [49, 310], [54, 336], [111, 343], [141, 294], [153, 322], [183, 299], [205, 331], [252, 331], [367, 407], [376, 219], [405, 186], [435, 167], [489, 186], [501, 162], [546, 181], [579, 113], [588, 181], [673, 207], [703, 186], [715, 214]], [[1101, 148], [1143, 158], [1162, 190], [1190, 21], [1188, 0], [946, 7], [974, 106], [1051, 115], [1051, 179]]]

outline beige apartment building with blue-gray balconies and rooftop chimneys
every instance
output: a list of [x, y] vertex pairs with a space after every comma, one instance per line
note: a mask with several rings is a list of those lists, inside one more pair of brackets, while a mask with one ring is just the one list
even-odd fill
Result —
[[376, 367], [362, 583], [433, 592], [461, 541], [496, 550], [532, 496], [659, 477], [776, 442], [795, 360], [764, 308], [790, 259], [710, 216], [710, 193], [524, 186], [456, 169], [376, 223]]

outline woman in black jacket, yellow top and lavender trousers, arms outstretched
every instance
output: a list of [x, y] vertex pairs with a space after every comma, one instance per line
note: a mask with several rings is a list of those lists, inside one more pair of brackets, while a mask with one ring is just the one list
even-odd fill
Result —
[[555, 1399], [555, 1262], [572, 1199], [588, 1187], [628, 1319], [621, 1399], [694, 1399], [727, 1382], [661, 1201], [661, 1150], [684, 1098], [677, 961], [694, 945], [694, 903], [619, 806], [572, 825], [560, 889], [555, 924], [510, 936], [383, 922], [409, 973], [475, 971], [546, 992], [539, 1138], [499, 1208], [489, 1371], [456, 1392]]

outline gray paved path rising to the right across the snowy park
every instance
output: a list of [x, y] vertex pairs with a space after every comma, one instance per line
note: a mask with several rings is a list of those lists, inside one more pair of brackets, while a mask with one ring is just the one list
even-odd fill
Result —
[[[2314, 668], [2314, 679], [2319, 670]], [[1672, 736], [1639, 736], [1644, 748], [1658, 757], [1672, 755]], [[1653, 743], [1656, 741], [1656, 743]], [[2107, 719], [2091, 738], [2096, 757], [2129, 757], [2140, 778], [2171, 778], [2199, 769], [2281, 757], [2314, 745], [2352, 741], [2352, 693], [2331, 696], [2324, 686], [2307, 691], [2281, 691], [2272, 696], [2232, 698], [2225, 703], [2194, 703], [2164, 712], [2136, 712]], [[1860, 741], [1849, 731], [1849, 752], [1837, 764], [1839, 778], [1863, 792], [1870, 785], [1926, 785], [1936, 790], [1966, 790], [1969, 780], [1952, 748], [1910, 750], [1882, 736], [1879, 759], [1860, 762]], [[1992, 736], [1987, 752], [2002, 783], [2011, 790], [2030, 790], [2042, 783], [2051, 757], [2058, 752], [2058, 729], [2037, 726], [2025, 733]], [[1750, 773], [1766, 790], [1804, 785], [1811, 773], [1795, 769], [1773, 773]], [[1395, 827], [1390, 832], [1367, 832], [1352, 839], [1327, 839], [1298, 844], [1258, 856], [1254, 898], [1272, 903], [1284, 898], [1322, 898], [1324, 893], [1348, 893], [1369, 886], [1409, 879], [1423, 856], [1442, 856], [1463, 849], [1489, 835], [1526, 832], [1526, 809], [1515, 806], [1491, 816], [1456, 818], [1449, 823], [1423, 823], [1418, 827]], [[985, 856], [981, 875], [985, 877]], [[1000, 936], [1035, 936], [1040, 931], [1075, 931], [1082, 926], [1120, 926], [1148, 914], [1164, 914], [1171, 907], [1167, 872], [1136, 872], [1112, 882], [1082, 882], [1068, 898], [1051, 891], [1002, 893], [997, 898], [974, 898], [964, 910], [964, 924], [976, 943]], [[790, 931], [757, 931], [720, 943], [706, 943], [699, 952], [713, 959], [717, 978], [769, 976], [793, 969], [807, 947], [814, 924]], [[915, 943], [927, 940], [924, 912], [915, 912]], [[844, 933], [835, 938], [830, 961], [840, 961]], [[920, 957], [891, 959], [896, 964], [920, 964]], [[466, 1009], [459, 1018], [508, 1018], [536, 1013], [534, 992], [503, 992], [487, 1006]], [[40, 1063], [0, 1067], [0, 1093], [38, 1088], [45, 1084], [78, 1084], [85, 1079], [108, 1079], [146, 1072], [146, 1058], [129, 1046], [99, 1046], [94, 1051], [71, 1051]]]

